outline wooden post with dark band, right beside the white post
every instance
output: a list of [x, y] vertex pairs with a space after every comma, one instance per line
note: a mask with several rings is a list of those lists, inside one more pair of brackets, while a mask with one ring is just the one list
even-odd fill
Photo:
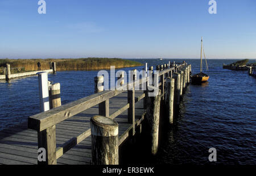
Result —
[[61, 106], [60, 83], [49, 85], [49, 108]]

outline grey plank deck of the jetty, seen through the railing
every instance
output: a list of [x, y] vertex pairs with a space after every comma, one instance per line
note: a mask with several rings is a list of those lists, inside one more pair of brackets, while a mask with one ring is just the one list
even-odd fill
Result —
[[[142, 91], [137, 91], [135, 97], [141, 97]], [[112, 115], [119, 108], [127, 104], [127, 92], [110, 98], [109, 113]], [[143, 100], [135, 103], [135, 119], [144, 118]], [[61, 121], [56, 125], [56, 145], [63, 146], [65, 142], [73, 137], [79, 136], [90, 129], [90, 118], [98, 114], [98, 106], [89, 108]], [[114, 119], [119, 125], [119, 139], [127, 135], [131, 125], [127, 123], [127, 110]], [[38, 164], [38, 134], [27, 128], [27, 122], [3, 129], [0, 131], [0, 164]], [[64, 153], [58, 158], [57, 164], [89, 165], [91, 162], [91, 139], [90, 136], [78, 145]]]

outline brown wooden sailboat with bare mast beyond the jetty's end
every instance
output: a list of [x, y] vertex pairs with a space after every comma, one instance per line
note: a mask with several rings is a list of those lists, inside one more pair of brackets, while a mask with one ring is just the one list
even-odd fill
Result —
[[[205, 73], [202, 72], [202, 51], [204, 52], [204, 48], [203, 48], [203, 37], [201, 38], [201, 64], [200, 64], [200, 73], [194, 74], [191, 79], [192, 79], [192, 83], [201, 83], [201, 82], [206, 82], [209, 79], [209, 76]], [[204, 58], [205, 58], [205, 54], [204, 54]], [[205, 63], [207, 66], [207, 70], [208, 70], [208, 65], [207, 65], [207, 60], [205, 58]]]

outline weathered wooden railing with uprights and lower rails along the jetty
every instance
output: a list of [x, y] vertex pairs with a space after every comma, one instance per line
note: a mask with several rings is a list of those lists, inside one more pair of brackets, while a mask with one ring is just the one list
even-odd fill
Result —
[[[174, 72], [178, 72], [181, 69], [184, 69], [187, 64], [167, 64], [166, 66], [156, 67], [156, 70], [159, 70], [158, 76], [160, 77], [160, 89], [162, 95], [164, 95], [164, 82], [166, 77], [172, 77]], [[151, 72], [152, 66], [150, 67]], [[154, 74], [154, 77], [156, 74]], [[38, 131], [38, 148], [46, 149], [46, 162], [38, 162], [38, 164], [56, 164], [57, 158], [61, 157], [65, 152], [71, 149], [73, 146], [79, 144], [86, 137], [91, 135], [91, 129], [86, 130], [81, 133], [79, 136], [74, 137], [67, 141], [63, 146], [56, 148], [56, 124], [61, 121], [71, 118], [72, 116], [79, 114], [82, 111], [88, 110], [88, 108], [94, 107], [99, 104], [99, 115], [106, 116], [110, 119], [114, 119], [118, 115], [122, 114], [124, 111], [128, 110], [128, 121], [131, 123], [130, 129], [135, 133], [135, 127], [142, 123], [143, 118], [135, 121], [135, 103], [141, 99], [147, 99], [147, 94], [144, 91], [141, 96], [135, 97], [135, 85], [150, 81], [151, 77], [144, 77], [141, 79], [135, 79], [134, 82], [127, 83], [122, 85], [127, 87], [127, 104], [122, 108], [119, 108], [113, 114], [109, 115], [109, 99], [115, 97], [125, 90], [104, 90], [93, 95], [90, 95], [85, 98], [81, 98], [71, 103], [64, 104], [63, 106], [53, 108], [49, 111], [42, 112], [30, 116], [28, 118], [28, 128]], [[133, 87], [133, 89], [129, 89]], [[146, 106], [146, 101], [144, 101], [144, 107]], [[100, 106], [101, 104], [101, 106]], [[128, 133], [125, 133], [119, 137], [119, 145], [129, 136]]]

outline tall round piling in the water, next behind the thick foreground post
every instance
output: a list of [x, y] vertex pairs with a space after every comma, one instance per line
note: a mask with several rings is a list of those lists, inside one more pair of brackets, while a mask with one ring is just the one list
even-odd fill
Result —
[[150, 127], [151, 154], [158, 152], [158, 133], [159, 133], [159, 115], [160, 115], [161, 90], [159, 89], [156, 97], [148, 97], [146, 119]]

